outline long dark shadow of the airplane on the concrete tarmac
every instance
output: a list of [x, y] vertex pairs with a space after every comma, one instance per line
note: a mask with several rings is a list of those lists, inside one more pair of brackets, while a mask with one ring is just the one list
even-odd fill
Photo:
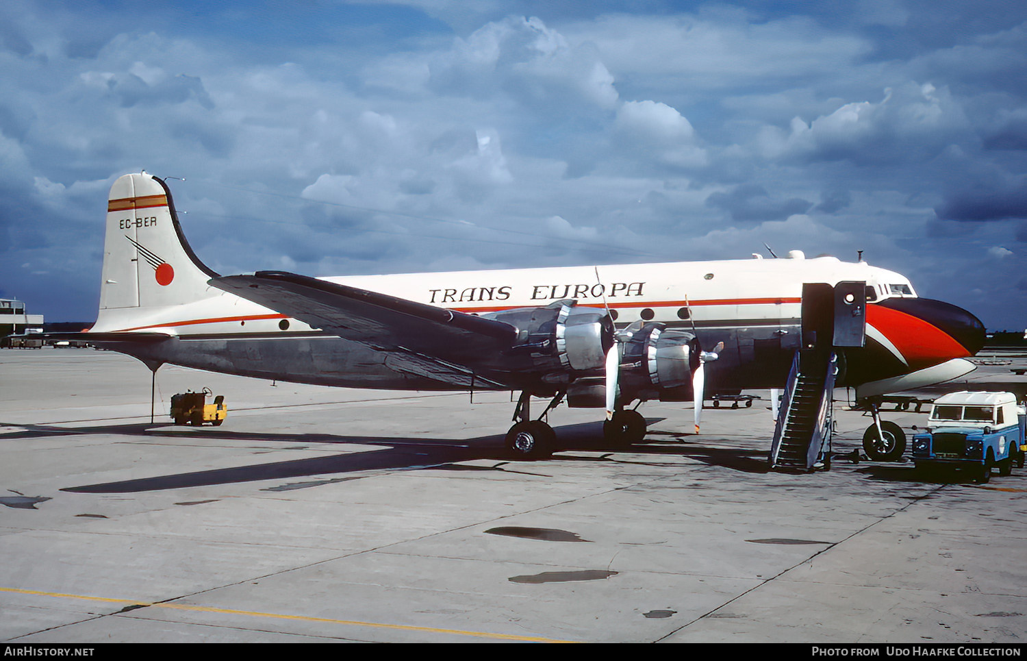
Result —
[[[662, 418], [650, 418], [650, 424]], [[424, 468], [445, 468], [459, 462], [471, 460], [495, 460], [503, 462], [509, 457], [503, 447], [503, 437], [492, 435], [472, 439], [424, 439], [404, 437], [341, 436], [335, 434], [260, 434], [232, 432], [214, 428], [177, 429], [152, 425], [110, 425], [77, 427], [74, 429], [47, 426], [18, 426], [25, 431], [5, 434], [6, 440], [16, 438], [40, 438], [62, 435], [112, 434], [118, 436], [181, 438], [202, 441], [253, 441], [266, 444], [303, 443], [382, 445], [383, 449], [371, 451], [344, 452], [330, 456], [315, 456], [302, 460], [271, 462], [252, 466], [212, 469], [174, 475], [86, 484], [66, 487], [63, 491], [79, 493], [127, 493], [190, 486], [210, 486], [258, 480], [295, 479], [317, 476], [316, 481], [307, 485], [340, 481], [332, 475], [345, 475], [359, 471], [418, 470]], [[556, 461], [599, 462], [617, 461], [619, 454], [631, 453], [633, 463], [645, 463], [645, 455], [682, 456], [711, 466], [721, 466], [744, 473], [766, 473], [766, 452], [747, 448], [709, 447], [692, 441], [690, 435], [653, 432], [645, 442], [631, 448], [611, 448], [602, 440], [602, 427], [597, 423], [569, 425], [558, 428], [559, 441]], [[668, 439], [668, 440], [661, 440]], [[568, 455], [561, 451], [603, 451], [600, 456]], [[183, 448], [188, 451], [188, 448]], [[642, 456], [640, 456], [642, 455]], [[532, 462], [509, 462], [499, 467], [451, 467], [462, 470], [508, 470], [532, 472]], [[520, 470], [519, 470], [520, 467]], [[353, 478], [343, 478], [353, 479]], [[282, 487], [282, 488], [288, 488]], [[299, 487], [297, 487], [299, 488]]]

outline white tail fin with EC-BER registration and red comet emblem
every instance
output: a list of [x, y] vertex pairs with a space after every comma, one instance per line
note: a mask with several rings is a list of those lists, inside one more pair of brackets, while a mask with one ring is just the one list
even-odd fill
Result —
[[211, 295], [206, 281], [218, 273], [186, 242], [163, 181], [147, 173], [125, 175], [108, 199], [101, 319], [105, 310], [181, 305]]

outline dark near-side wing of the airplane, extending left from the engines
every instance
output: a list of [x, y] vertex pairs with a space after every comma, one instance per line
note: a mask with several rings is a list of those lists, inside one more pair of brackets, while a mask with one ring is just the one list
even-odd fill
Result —
[[454, 385], [505, 385], [478, 372], [518, 338], [504, 322], [295, 273], [258, 271], [210, 284], [383, 352], [397, 371]]

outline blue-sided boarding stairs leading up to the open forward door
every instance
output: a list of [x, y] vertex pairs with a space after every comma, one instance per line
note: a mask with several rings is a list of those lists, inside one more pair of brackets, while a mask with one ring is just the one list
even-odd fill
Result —
[[798, 351], [792, 361], [774, 424], [770, 470], [809, 472], [830, 468], [832, 406], [838, 357]]

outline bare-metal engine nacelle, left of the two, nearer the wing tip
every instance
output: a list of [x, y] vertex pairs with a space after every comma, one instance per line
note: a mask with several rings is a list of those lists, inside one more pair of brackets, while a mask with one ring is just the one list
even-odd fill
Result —
[[556, 362], [554, 368], [581, 372], [601, 368], [613, 346], [613, 322], [594, 307], [577, 307], [561, 300], [545, 307], [521, 307], [486, 315], [515, 326], [515, 348], [531, 352], [536, 363]]

